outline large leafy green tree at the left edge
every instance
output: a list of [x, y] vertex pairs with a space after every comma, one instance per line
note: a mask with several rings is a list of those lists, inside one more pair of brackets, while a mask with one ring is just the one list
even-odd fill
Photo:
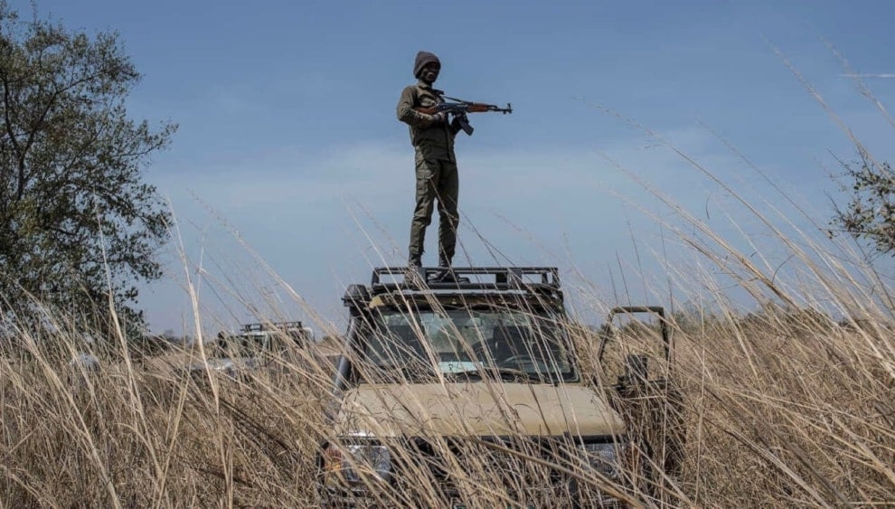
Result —
[[136, 285], [161, 276], [169, 212], [141, 170], [176, 125], [128, 118], [140, 78], [118, 33], [25, 21], [0, 0], [2, 315], [143, 324]]

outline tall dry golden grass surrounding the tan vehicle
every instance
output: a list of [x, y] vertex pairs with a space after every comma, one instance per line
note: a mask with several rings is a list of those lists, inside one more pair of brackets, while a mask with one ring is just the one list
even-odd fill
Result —
[[[655, 498], [638, 496], [635, 504], [895, 504], [895, 323], [891, 306], [878, 297], [889, 288], [853, 256], [847, 265], [866, 270], [866, 280], [877, 285], [871, 292], [854, 269], [845, 269], [841, 252], [822, 249], [811, 235], [793, 239], [745, 203], [785, 246], [790, 265], [800, 264], [798, 286], [787, 286], [772, 264], [765, 268], [742, 255], [656, 196], [701, 239], [671, 224], [669, 231], [694, 256], [736, 278], [763, 310], [744, 316], [717, 291], [701, 297], [713, 312], [674, 315], [683, 465]], [[695, 281], [692, 268], [667, 269], [683, 293], [718, 287], [709, 277]], [[617, 304], [596, 296], [583, 301], [597, 310]], [[796, 304], [816, 302], [844, 319]], [[3, 339], [0, 359], [3, 506], [317, 503], [314, 461], [318, 444], [332, 438], [326, 419], [332, 402], [331, 366], [316, 347], [275, 359], [273, 375], [234, 382], [179, 371], [201, 359], [199, 350], [144, 359], [121, 342], [95, 352], [99, 372], [83, 372], [68, 365], [84, 347], [75, 339], [83, 332], [76, 324], [57, 324], [52, 335], [29, 333], [21, 324], [3, 328], [18, 331]], [[600, 373], [595, 343], [579, 344], [587, 371]], [[468, 466], [455, 467], [482, 500], [510, 502], [499, 472], [473, 475], [461, 468]], [[596, 476], [580, 478], [603, 485]], [[423, 480], [378, 495], [398, 504], [436, 504], [430, 487]]]

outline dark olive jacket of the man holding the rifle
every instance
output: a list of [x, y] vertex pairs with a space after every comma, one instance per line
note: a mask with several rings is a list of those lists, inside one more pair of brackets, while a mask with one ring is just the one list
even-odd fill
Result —
[[433, 126], [431, 115], [413, 109], [435, 106], [442, 102], [443, 93], [422, 81], [405, 87], [400, 93], [398, 119], [410, 126], [410, 145], [416, 149], [418, 159], [455, 161], [454, 137], [460, 130], [457, 123]]

